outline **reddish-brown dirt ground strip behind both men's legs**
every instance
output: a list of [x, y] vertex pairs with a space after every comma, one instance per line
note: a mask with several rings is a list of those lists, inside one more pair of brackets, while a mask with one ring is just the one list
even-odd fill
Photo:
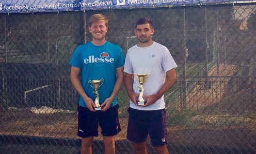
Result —
[[[1, 111], [0, 135], [79, 139], [76, 113], [35, 114], [31, 111]], [[168, 126], [171, 146], [243, 147], [256, 150], [256, 120], [238, 119], [225, 125], [216, 117], [191, 117], [193, 124]], [[199, 123], [200, 118], [209, 123]], [[228, 117], [230, 120], [230, 118]], [[120, 119], [122, 131], [116, 140], [126, 139], [127, 119]], [[219, 125], [219, 126], [218, 126]], [[99, 130], [100, 131], [100, 130]], [[99, 136], [95, 140], [102, 140]]]

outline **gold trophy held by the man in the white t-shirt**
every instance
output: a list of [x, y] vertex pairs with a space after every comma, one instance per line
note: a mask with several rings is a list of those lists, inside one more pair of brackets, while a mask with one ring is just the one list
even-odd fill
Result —
[[145, 105], [147, 100], [144, 100], [144, 98], [143, 98], [143, 94], [144, 94], [143, 84], [145, 83], [145, 81], [147, 81], [149, 79], [150, 73], [147, 73], [147, 74], [134, 73], [133, 75], [134, 75], [134, 78], [136, 75], [138, 76], [139, 83], [140, 83], [140, 85], [138, 85], [140, 93], [139, 93], [139, 97], [137, 98], [137, 103], [138, 103], [138, 105]]

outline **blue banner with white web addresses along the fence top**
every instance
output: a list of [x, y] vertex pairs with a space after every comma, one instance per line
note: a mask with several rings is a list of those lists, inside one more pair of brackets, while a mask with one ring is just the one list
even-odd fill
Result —
[[95, 1], [1, 1], [0, 13], [23, 13], [23, 12], [58, 12], [58, 11], [83, 11], [83, 10], [106, 10], [106, 9], [131, 9], [131, 8], [154, 8], [171, 6], [195, 6], [212, 4], [232, 3], [255, 3], [256, 1], [193, 1], [193, 0], [95, 0]]

